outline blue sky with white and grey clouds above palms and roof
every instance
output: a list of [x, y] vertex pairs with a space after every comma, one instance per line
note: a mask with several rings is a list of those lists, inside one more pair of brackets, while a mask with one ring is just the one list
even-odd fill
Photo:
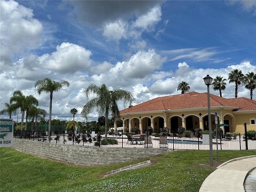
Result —
[[[228, 79], [234, 69], [256, 72], [256, 1], [0, 3], [1, 109], [21, 90], [49, 111], [49, 95], [33, 88], [46, 77], [70, 82], [54, 93], [53, 118], [72, 120], [76, 108], [82, 121], [82, 90], [89, 83], [128, 90], [135, 105], [180, 94], [181, 81], [190, 92], [206, 92], [207, 74]], [[226, 83], [222, 96], [234, 98], [234, 84]], [[238, 91], [250, 98], [243, 85]], [[94, 112], [89, 120], [97, 118]]]

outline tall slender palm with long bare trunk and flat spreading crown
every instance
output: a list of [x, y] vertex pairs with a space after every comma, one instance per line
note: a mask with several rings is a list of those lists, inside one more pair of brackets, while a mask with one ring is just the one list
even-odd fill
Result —
[[[49, 126], [48, 131], [51, 131], [51, 123], [52, 123], [52, 95], [53, 92], [57, 92], [64, 88], [64, 86], [69, 86], [70, 83], [68, 81], [61, 80], [58, 81], [52, 81], [50, 78], [45, 78], [43, 80], [38, 80], [35, 82], [34, 87], [37, 87], [37, 92], [40, 95], [42, 92], [50, 93], [50, 109], [49, 109]], [[50, 140], [50, 134], [49, 134], [49, 140]]]

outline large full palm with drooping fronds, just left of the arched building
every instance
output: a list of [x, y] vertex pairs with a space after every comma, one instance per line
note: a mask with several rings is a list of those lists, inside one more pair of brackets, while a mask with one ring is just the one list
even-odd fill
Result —
[[129, 103], [132, 105], [133, 95], [132, 93], [121, 89], [110, 91], [105, 84], [102, 84], [101, 86], [89, 84], [88, 87], [84, 88], [84, 95], [88, 99], [90, 94], [96, 94], [96, 98], [88, 101], [82, 108], [81, 115], [87, 120], [88, 115], [94, 108], [96, 108], [99, 116], [102, 116], [102, 114], [105, 113], [105, 139], [107, 139], [109, 112], [114, 114], [116, 118], [120, 118], [117, 102], [122, 100], [124, 104]]

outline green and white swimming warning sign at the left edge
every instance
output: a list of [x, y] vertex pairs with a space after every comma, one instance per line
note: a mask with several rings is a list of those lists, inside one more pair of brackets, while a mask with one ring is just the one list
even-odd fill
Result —
[[0, 118], [0, 147], [13, 145], [13, 119]]

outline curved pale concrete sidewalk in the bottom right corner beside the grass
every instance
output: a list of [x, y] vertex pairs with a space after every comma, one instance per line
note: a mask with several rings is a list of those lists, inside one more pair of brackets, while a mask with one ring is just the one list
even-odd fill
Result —
[[199, 192], [244, 192], [244, 180], [255, 167], [256, 155], [229, 160], [204, 180]]

